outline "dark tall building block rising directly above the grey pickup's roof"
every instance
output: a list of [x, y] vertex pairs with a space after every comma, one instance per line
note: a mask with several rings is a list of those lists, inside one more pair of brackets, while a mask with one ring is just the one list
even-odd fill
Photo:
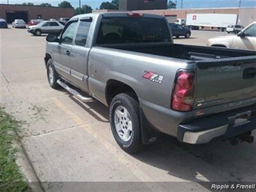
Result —
[[166, 9], [167, 0], [119, 0], [119, 10], [161, 10]]

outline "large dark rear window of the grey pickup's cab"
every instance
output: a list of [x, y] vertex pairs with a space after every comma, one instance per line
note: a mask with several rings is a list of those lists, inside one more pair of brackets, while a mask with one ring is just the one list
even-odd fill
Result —
[[170, 41], [165, 20], [147, 17], [104, 17], [97, 36], [97, 44]]

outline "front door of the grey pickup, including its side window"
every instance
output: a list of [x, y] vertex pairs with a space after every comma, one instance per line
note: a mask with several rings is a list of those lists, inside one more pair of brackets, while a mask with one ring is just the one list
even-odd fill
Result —
[[57, 51], [60, 55], [60, 63], [54, 63], [54, 66], [63, 78], [70, 79], [70, 58], [73, 56], [71, 54], [72, 44], [74, 40], [74, 33], [76, 30], [77, 21], [72, 21], [65, 26], [63, 33], [60, 37], [60, 44], [58, 44]]

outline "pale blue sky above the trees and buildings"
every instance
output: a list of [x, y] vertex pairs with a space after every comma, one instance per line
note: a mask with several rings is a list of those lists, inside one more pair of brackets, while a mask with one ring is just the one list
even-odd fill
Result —
[[[6, 4], [8, 0], [0, 0], [0, 3]], [[10, 4], [28, 3], [34, 4], [51, 3], [52, 6], [58, 6], [63, 0], [9, 0]], [[75, 8], [79, 6], [79, 0], [66, 0], [69, 1]], [[88, 4], [93, 9], [99, 8], [103, 1], [111, 0], [81, 0], [81, 4]], [[173, 0], [174, 2], [176, 0]], [[181, 1], [177, 0], [177, 8], [181, 8]], [[218, 8], [218, 7], [238, 7], [240, 0], [183, 0], [183, 8]], [[241, 0], [241, 7], [256, 7], [256, 0]]]

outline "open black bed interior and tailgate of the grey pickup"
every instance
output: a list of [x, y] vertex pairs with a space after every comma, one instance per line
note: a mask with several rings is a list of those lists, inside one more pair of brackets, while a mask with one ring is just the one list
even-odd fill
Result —
[[234, 102], [239, 102], [241, 106], [255, 102], [255, 51], [180, 44], [108, 47], [150, 54], [149, 58], [152, 58], [152, 55], [177, 58], [189, 65], [195, 65], [194, 109], [229, 103], [230, 106], [226, 105], [221, 109], [225, 111], [236, 108]]

